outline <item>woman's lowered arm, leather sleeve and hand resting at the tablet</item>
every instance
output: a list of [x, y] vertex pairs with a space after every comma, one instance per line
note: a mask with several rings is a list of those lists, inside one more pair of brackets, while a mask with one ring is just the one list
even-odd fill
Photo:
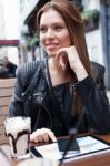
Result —
[[[36, 69], [36, 71], [37, 71], [38, 66], [32, 68], [32, 69]], [[10, 116], [26, 116], [27, 115], [27, 113], [26, 113], [27, 110], [24, 111], [24, 101], [22, 97], [22, 93], [24, 93], [27, 91], [28, 85], [30, 84], [30, 81], [32, 80], [31, 77], [33, 77], [33, 75], [34, 75], [34, 70], [32, 70], [32, 72], [31, 72], [31, 66], [29, 69], [28, 68], [26, 68], [27, 70], [19, 68], [17, 71], [16, 89], [14, 89], [14, 93], [13, 93], [13, 96], [12, 96], [12, 100], [11, 100], [11, 103], [9, 106]], [[24, 71], [28, 71], [28, 75], [26, 74]], [[30, 142], [34, 142], [34, 143], [49, 142], [50, 139], [52, 142], [57, 141], [53, 132], [48, 128], [36, 129], [30, 135]]]

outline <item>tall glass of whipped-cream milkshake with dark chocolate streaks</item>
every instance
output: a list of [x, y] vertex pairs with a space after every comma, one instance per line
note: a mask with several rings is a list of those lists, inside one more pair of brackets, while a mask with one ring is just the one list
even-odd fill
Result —
[[30, 117], [9, 117], [4, 121], [4, 127], [9, 138], [11, 157], [17, 159], [29, 158]]

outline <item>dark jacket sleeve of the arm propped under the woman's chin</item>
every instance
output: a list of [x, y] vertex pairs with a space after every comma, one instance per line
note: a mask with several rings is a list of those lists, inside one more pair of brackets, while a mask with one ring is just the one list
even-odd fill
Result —
[[94, 77], [86, 77], [76, 89], [84, 106], [89, 126], [99, 134], [110, 132], [110, 105], [106, 95], [104, 68], [97, 64]]

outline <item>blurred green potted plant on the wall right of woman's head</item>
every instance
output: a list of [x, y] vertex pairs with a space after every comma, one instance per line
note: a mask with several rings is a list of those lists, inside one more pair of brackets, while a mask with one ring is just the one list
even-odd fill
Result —
[[97, 9], [82, 11], [81, 17], [82, 17], [82, 20], [83, 20], [83, 23], [84, 23], [86, 32], [98, 29], [98, 25], [99, 25], [99, 11]]

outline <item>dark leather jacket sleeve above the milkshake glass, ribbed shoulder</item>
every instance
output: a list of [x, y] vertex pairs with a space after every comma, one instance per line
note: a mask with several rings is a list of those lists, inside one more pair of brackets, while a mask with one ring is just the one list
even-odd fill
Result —
[[34, 72], [37, 71], [39, 62], [31, 62], [19, 66], [17, 70], [17, 83], [14, 93], [9, 105], [10, 116], [26, 116], [24, 97], [23, 94], [32, 81]]

